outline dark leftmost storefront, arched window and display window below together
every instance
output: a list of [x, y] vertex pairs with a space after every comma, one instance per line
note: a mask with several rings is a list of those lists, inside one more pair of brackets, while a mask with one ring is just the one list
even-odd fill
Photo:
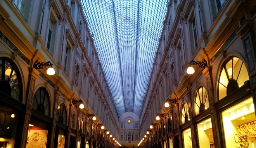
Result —
[[20, 72], [11, 59], [0, 57], [0, 147], [14, 148], [21, 134], [24, 104]]

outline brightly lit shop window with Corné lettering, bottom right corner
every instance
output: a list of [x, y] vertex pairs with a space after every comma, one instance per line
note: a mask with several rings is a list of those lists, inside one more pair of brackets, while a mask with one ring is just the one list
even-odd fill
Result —
[[223, 111], [222, 120], [227, 148], [256, 147], [256, 118], [252, 97]]

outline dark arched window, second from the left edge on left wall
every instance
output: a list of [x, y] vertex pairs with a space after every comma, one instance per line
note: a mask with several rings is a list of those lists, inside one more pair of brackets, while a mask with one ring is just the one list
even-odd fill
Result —
[[49, 95], [44, 87], [39, 87], [33, 96], [32, 108], [42, 114], [50, 116]]

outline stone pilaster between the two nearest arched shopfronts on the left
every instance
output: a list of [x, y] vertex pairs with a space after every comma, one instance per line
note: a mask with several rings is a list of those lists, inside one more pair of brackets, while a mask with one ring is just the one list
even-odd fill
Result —
[[20, 135], [20, 146], [21, 148], [26, 148], [27, 137], [28, 137], [28, 127], [31, 117], [32, 110], [32, 101], [33, 93], [35, 92], [35, 81], [36, 77], [39, 75], [39, 72], [36, 71], [33, 67], [29, 68], [28, 74], [28, 86], [26, 91], [26, 113], [23, 116], [22, 126], [21, 126], [21, 135]]

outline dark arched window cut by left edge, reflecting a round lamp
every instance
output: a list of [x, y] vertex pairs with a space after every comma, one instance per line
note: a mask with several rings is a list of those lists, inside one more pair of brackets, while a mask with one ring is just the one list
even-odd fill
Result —
[[21, 76], [17, 66], [7, 57], [0, 57], [0, 91], [21, 100]]

